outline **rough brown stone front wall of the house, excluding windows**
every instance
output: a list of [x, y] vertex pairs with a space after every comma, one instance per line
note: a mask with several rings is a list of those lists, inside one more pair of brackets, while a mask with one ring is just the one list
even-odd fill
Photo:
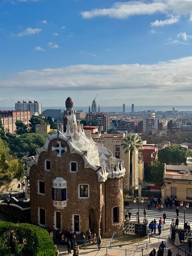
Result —
[[[42, 152], [38, 158], [38, 164], [33, 165], [30, 169], [30, 201], [31, 201], [31, 221], [33, 224], [38, 223], [38, 207], [46, 210], [46, 226], [54, 225], [54, 211], [61, 212], [62, 229], [72, 230], [73, 215], [80, 217], [80, 231], [86, 232], [89, 227], [90, 211], [94, 212], [96, 233], [100, 220], [100, 183], [98, 176], [92, 169], [84, 168], [84, 161], [78, 154], [69, 154], [69, 147], [66, 142], [62, 141], [64, 147], [67, 147], [67, 152], [62, 153], [62, 157], [57, 157], [58, 152], [52, 151], [52, 146], [57, 146], [57, 141], [54, 139], [49, 143], [48, 151]], [[51, 171], [44, 171], [45, 160], [51, 161]], [[70, 173], [70, 162], [78, 163], [78, 172]], [[53, 179], [63, 177], [67, 184], [67, 206], [63, 209], [57, 209], [53, 206], [52, 186]], [[45, 195], [39, 195], [38, 181], [45, 181]], [[89, 184], [90, 197], [88, 199], [78, 198], [79, 184]]]

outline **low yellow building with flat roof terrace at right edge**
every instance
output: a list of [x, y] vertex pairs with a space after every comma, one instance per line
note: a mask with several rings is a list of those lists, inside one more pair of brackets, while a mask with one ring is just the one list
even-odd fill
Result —
[[162, 199], [169, 196], [192, 203], [192, 166], [165, 164], [163, 179]]

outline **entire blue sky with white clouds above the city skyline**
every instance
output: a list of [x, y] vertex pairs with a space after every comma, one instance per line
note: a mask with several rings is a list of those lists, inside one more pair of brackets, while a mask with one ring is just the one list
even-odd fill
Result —
[[192, 105], [192, 0], [0, 0], [0, 107]]

